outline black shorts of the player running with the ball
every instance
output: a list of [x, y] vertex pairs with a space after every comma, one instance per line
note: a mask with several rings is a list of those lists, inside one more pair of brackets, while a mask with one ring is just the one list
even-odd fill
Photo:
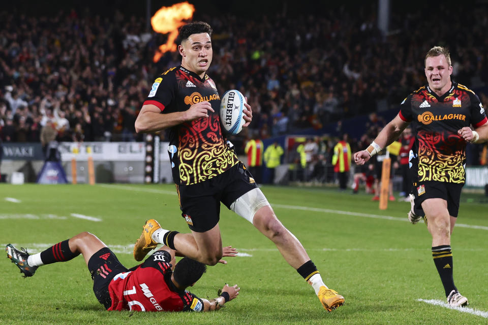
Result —
[[220, 175], [192, 185], [179, 185], [181, 216], [195, 232], [214, 228], [220, 220], [220, 202], [228, 209], [243, 194], [257, 188], [253, 175], [242, 162]]

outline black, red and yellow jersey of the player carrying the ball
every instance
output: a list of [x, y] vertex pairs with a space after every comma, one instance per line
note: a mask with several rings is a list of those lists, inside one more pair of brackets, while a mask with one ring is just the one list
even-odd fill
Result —
[[155, 80], [144, 101], [158, 106], [162, 114], [184, 112], [201, 101], [208, 101], [215, 112], [170, 128], [168, 154], [177, 185], [204, 182], [238, 162], [222, 133], [217, 87], [207, 75], [202, 79], [177, 66]]

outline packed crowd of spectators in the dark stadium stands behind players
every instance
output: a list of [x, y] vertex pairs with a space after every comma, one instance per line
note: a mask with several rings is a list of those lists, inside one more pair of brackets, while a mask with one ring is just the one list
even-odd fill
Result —
[[[295, 19], [195, 18], [214, 28], [208, 73], [218, 89], [240, 89], [253, 107], [243, 136], [264, 139], [396, 107], [425, 84], [421, 58], [439, 40], [451, 49], [453, 79], [488, 106], [486, 6], [439, 5], [435, 22], [423, 10], [392, 10], [384, 36], [371, 5]], [[450, 28], [439, 27], [445, 24]], [[178, 53], [152, 61], [165, 38], [147, 31], [145, 18], [117, 11], [110, 18], [88, 9], [49, 17], [0, 11], [0, 138], [140, 139], [134, 121], [150, 84], [180, 62]], [[353, 151], [356, 141], [363, 139], [352, 141]]]

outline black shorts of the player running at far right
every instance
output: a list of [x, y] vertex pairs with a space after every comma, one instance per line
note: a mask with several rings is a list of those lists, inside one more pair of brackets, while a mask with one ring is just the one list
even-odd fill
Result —
[[425, 215], [422, 210], [422, 202], [426, 199], [439, 198], [446, 200], [449, 215], [457, 218], [463, 186], [464, 184], [436, 181], [414, 183], [412, 192], [415, 196], [415, 214]]

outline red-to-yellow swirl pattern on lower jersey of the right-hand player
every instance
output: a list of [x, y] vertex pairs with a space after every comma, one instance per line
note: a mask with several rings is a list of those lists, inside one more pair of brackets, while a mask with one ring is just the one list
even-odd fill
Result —
[[419, 131], [418, 180], [462, 184], [466, 142], [456, 133]]

